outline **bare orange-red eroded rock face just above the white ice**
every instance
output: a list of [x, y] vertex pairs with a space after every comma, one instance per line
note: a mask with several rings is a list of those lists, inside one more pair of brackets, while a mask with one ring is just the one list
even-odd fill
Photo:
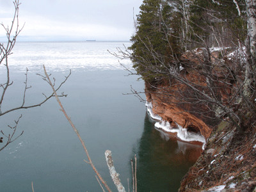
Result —
[[[168, 99], [168, 102], [165, 102], [166, 99], [163, 99], [162, 94], [152, 91], [148, 92], [147, 87], [145, 92], [147, 101], [152, 102], [153, 113], [161, 116], [164, 121], [170, 122], [172, 127], [179, 124], [188, 129], [189, 132], [200, 132], [205, 140], [209, 138], [212, 129], [207, 126], [202, 119], [192, 115], [182, 108], [178, 108], [175, 105], [175, 102], [172, 103], [172, 100], [170, 100], [171, 98]], [[189, 106], [185, 106], [185, 108], [189, 108]]]

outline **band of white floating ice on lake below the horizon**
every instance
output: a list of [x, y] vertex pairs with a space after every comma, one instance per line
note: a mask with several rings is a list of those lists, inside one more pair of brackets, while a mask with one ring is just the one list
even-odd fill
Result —
[[[122, 70], [124, 67], [118, 58], [110, 52], [116, 52], [116, 47], [124, 50], [131, 42], [17, 42], [13, 54], [9, 57], [11, 72], [42, 72], [45, 65], [51, 72], [67, 70], [95, 71]], [[131, 68], [131, 60], [122, 60], [125, 67]], [[5, 72], [0, 65], [0, 73]]]

